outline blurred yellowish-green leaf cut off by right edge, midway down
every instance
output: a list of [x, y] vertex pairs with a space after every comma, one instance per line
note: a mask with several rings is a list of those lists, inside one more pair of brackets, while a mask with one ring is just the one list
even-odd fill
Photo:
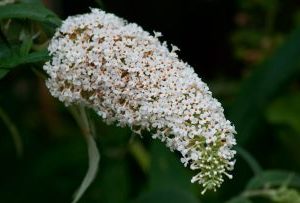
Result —
[[267, 119], [284, 124], [300, 133], [300, 94], [285, 95], [274, 101], [267, 110]]

